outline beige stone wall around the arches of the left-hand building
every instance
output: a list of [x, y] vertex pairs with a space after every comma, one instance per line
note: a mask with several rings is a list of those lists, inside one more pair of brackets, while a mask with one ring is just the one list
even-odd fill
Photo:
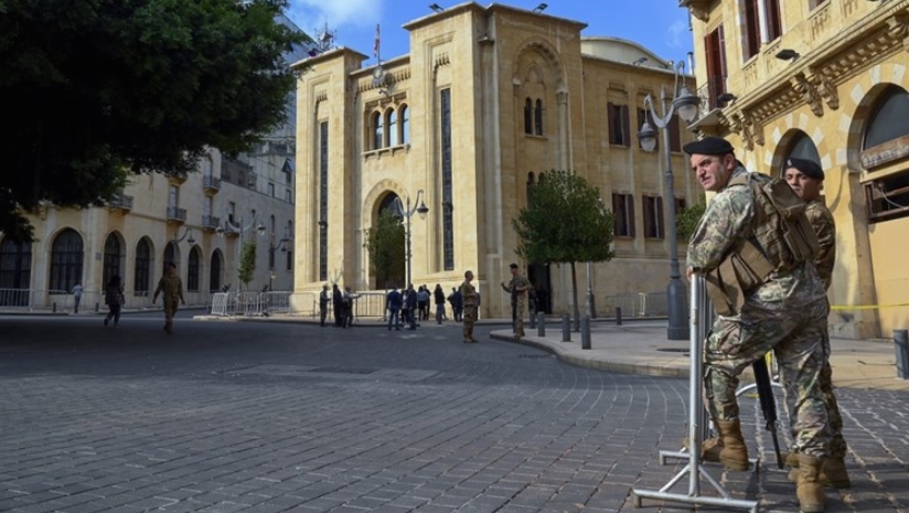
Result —
[[[255, 161], [256, 159], [254, 159]], [[260, 159], [259, 159], [260, 160]], [[164, 264], [164, 248], [169, 242], [181, 238], [178, 243], [175, 260], [184, 286], [188, 281], [188, 261], [192, 247], [201, 252], [200, 282], [197, 292], [186, 291], [188, 304], [207, 304], [210, 295], [210, 269], [212, 255], [220, 253], [223, 256], [222, 284], [232, 284], [231, 290], [238, 289], [237, 256], [239, 252], [238, 236], [217, 236], [213, 226], [203, 224], [204, 215], [212, 215], [224, 220], [229, 202], [237, 205], [237, 216], [245, 216], [244, 225], [252, 224], [252, 211], [258, 213], [257, 223], [266, 225], [266, 233], [259, 241], [257, 252], [257, 269], [250, 289], [259, 290], [271, 281], [272, 290], [290, 290], [293, 281], [293, 269], [286, 265], [286, 254], [276, 253], [276, 268], [274, 278], [269, 270], [268, 245], [274, 239], [276, 245], [284, 238], [284, 227], [292, 221], [292, 204], [284, 199], [286, 179], [277, 162], [257, 162], [258, 181], [256, 189], [242, 188], [222, 182], [220, 190], [206, 190], [203, 186], [204, 171], [190, 174], [185, 181], [173, 181], [161, 175], [135, 177], [125, 189], [124, 194], [131, 197], [130, 209], [92, 207], [85, 210], [58, 209], [52, 205], [41, 209], [29, 218], [34, 226], [36, 241], [32, 246], [31, 288], [47, 290], [50, 287], [51, 254], [54, 238], [64, 229], [75, 229], [83, 239], [83, 272], [82, 285], [87, 295], [104, 289], [104, 246], [108, 236], [114, 234], [121, 243], [122, 257], [120, 276], [124, 278], [127, 290], [128, 307], [150, 304], [151, 298], [135, 296], [136, 247], [140, 239], [147, 239], [151, 245], [151, 279], [153, 290], [158, 278], [162, 274]], [[221, 157], [212, 154], [213, 175], [220, 177]], [[267, 194], [268, 183], [280, 184], [281, 195], [271, 197]], [[185, 209], [184, 223], [168, 222], [168, 206], [171, 184], [179, 186], [177, 206]], [[288, 184], [292, 190], [293, 184]], [[211, 202], [211, 213], [206, 213], [206, 202]], [[271, 233], [271, 216], [275, 217], [276, 229]], [[292, 233], [292, 223], [291, 223]], [[191, 231], [191, 237], [188, 236]], [[245, 236], [252, 237], [250, 229]], [[194, 243], [190, 243], [190, 238]]]

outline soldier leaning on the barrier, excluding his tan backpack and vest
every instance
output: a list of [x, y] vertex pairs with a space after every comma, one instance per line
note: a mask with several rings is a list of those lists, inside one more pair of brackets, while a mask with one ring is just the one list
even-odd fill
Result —
[[[748, 171], [725, 139], [707, 137], [684, 150], [702, 186], [717, 193], [688, 245], [688, 276], [707, 275], [709, 279], [756, 237], [756, 228], [760, 228], [752, 226], [757, 197], [750, 186], [727, 186], [734, 177]], [[831, 442], [820, 385], [830, 311], [823, 284], [814, 264], [801, 261], [789, 269], [772, 270], [742, 296], [737, 312], [717, 318], [704, 348], [704, 395], [719, 435], [715, 446], [718, 459], [728, 469], [748, 469], [736, 388], [742, 371], [773, 350], [787, 389], [787, 407], [794, 419], [800, 507], [805, 513], [823, 512], [825, 495], [819, 473]]]

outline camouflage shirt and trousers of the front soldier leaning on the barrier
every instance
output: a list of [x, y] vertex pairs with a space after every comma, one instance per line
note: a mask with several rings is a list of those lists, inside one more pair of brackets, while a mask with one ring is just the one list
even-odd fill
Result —
[[[737, 168], [730, 181], [746, 173]], [[688, 246], [688, 267], [706, 272], [753, 236], [756, 200], [750, 188], [727, 186], [710, 202]], [[826, 301], [813, 263], [773, 271], [751, 291], [741, 310], [720, 316], [704, 349], [704, 395], [714, 420], [739, 420], [739, 375], [773, 350], [793, 419], [798, 452], [824, 458], [831, 427], [820, 385], [827, 334]]]

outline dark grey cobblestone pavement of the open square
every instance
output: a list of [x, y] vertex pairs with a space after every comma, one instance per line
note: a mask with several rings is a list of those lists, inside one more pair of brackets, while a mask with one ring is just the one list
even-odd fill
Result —
[[[490, 328], [463, 344], [453, 325], [0, 318], [0, 511], [689, 510], [630, 495], [678, 470], [657, 450], [684, 436], [686, 381], [575, 367]], [[840, 399], [854, 487], [827, 511], [909, 512], [909, 393]], [[746, 434], [767, 457], [756, 403]], [[798, 511], [785, 471], [710, 470]]]

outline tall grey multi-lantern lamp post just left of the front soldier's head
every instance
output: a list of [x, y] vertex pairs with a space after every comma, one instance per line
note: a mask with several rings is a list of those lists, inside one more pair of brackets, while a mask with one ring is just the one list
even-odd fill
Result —
[[[683, 121], [691, 124], [697, 118], [697, 108], [701, 105], [701, 98], [693, 95], [684, 82], [680, 88], [680, 74], [685, 68], [685, 62], [682, 61], [675, 65], [675, 84], [673, 85], [674, 98], [670, 103], [666, 88], [663, 87], [661, 92], [661, 100], [663, 104], [663, 116], [657, 116], [653, 106], [653, 99], [650, 95], [644, 98], [644, 109], [653, 119], [656, 128], [663, 131], [663, 158], [665, 159], [666, 170], [666, 195], [669, 196], [666, 203], [666, 228], [669, 229], [670, 239], [670, 282], [666, 287], [666, 301], [669, 307], [670, 340], [687, 340], [688, 339], [688, 316], [686, 308], [686, 290], [685, 284], [682, 282], [682, 275], [678, 268], [678, 246], [676, 243], [675, 232], [675, 188], [672, 180], [672, 156], [670, 154], [670, 121], [673, 114], [678, 111], [678, 117]], [[641, 140], [641, 147], [644, 151], [653, 151], [656, 147], [656, 130], [650, 126], [648, 119], [644, 119], [641, 126], [641, 131], [638, 132], [638, 138]]]

